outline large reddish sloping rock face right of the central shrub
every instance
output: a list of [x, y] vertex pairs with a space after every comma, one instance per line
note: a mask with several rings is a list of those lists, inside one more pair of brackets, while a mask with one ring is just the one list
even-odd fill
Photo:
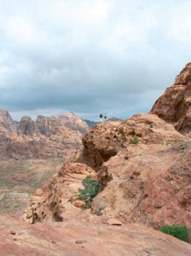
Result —
[[191, 143], [129, 146], [104, 163], [92, 213], [191, 228]]

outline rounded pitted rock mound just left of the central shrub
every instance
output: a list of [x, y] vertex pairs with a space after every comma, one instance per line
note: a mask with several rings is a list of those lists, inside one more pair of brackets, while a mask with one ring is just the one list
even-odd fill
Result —
[[[82, 180], [87, 176], [96, 178], [95, 171], [84, 164], [66, 163], [61, 170], [36, 191], [26, 211], [27, 222], [61, 222], [75, 218], [82, 212], [84, 203], [78, 200]], [[38, 195], [38, 196], [36, 196]], [[81, 204], [80, 204], [81, 203]]]

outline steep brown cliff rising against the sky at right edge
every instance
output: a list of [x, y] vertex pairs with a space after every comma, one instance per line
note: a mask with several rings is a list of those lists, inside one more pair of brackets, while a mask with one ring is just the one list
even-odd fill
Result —
[[176, 77], [173, 86], [157, 99], [150, 113], [154, 113], [184, 135], [191, 137], [191, 63]]

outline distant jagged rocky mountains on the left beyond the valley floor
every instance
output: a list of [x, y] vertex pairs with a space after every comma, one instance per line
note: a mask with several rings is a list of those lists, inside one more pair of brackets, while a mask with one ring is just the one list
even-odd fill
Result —
[[23, 116], [18, 124], [0, 111], [0, 159], [69, 159], [82, 147], [87, 124], [69, 113], [59, 118]]

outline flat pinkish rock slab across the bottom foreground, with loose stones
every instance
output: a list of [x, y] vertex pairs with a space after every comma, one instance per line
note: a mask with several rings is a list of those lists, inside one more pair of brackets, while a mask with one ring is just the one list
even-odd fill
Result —
[[110, 226], [106, 219], [86, 215], [68, 221], [28, 225], [0, 216], [3, 256], [190, 256], [191, 246], [143, 225]]

